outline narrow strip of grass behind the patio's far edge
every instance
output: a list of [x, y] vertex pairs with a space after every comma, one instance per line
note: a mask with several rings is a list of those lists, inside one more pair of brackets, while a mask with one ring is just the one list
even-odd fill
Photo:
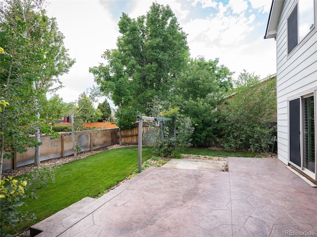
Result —
[[253, 153], [211, 150], [204, 148], [184, 148], [179, 151], [183, 154], [202, 155], [211, 157], [255, 157]]

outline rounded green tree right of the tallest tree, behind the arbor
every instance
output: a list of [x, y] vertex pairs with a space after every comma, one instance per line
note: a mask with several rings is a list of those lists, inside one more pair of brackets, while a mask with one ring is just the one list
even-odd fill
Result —
[[223, 94], [232, 88], [232, 73], [218, 62], [203, 57], [191, 59], [177, 80], [175, 101], [182, 105], [181, 113], [192, 119], [195, 128], [192, 142], [196, 146], [216, 139], [216, 107]]

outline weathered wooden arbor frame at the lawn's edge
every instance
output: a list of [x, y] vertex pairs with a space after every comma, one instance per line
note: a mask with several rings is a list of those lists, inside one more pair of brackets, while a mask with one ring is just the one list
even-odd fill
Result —
[[[137, 116], [139, 118], [139, 150], [138, 150], [138, 170], [139, 172], [142, 171], [142, 131], [143, 131], [143, 120], [150, 120], [150, 121], [160, 121], [160, 127], [161, 127], [161, 137], [162, 141], [164, 140], [164, 121], [171, 121], [173, 118], [155, 118], [155, 117], [146, 117], [146, 116]], [[174, 121], [174, 138], [176, 138], [176, 127], [175, 127], [175, 121]], [[175, 151], [177, 151], [176, 143], [174, 145]]]

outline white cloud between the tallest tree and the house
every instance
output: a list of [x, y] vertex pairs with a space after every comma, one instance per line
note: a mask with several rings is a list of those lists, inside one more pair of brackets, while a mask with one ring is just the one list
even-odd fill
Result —
[[263, 40], [262, 36], [257, 35], [258, 31], [255, 29], [260, 23], [256, 21], [255, 14], [246, 16], [243, 9], [247, 9], [247, 6], [240, 8], [239, 15], [228, 14], [228, 7], [234, 6], [224, 6], [220, 2], [218, 13], [214, 17], [193, 19], [184, 25], [183, 28], [188, 33], [191, 57], [201, 55], [206, 60], [219, 58], [219, 64], [235, 72], [234, 78], [243, 69], [255, 72], [261, 78], [274, 74], [275, 41]]

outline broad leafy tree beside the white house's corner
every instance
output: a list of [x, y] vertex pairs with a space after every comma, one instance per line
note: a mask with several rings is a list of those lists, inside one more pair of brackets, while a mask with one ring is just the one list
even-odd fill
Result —
[[251, 152], [267, 151], [276, 129], [270, 125], [276, 113], [276, 81], [261, 82], [254, 73], [244, 70], [235, 86], [219, 118], [223, 146]]

